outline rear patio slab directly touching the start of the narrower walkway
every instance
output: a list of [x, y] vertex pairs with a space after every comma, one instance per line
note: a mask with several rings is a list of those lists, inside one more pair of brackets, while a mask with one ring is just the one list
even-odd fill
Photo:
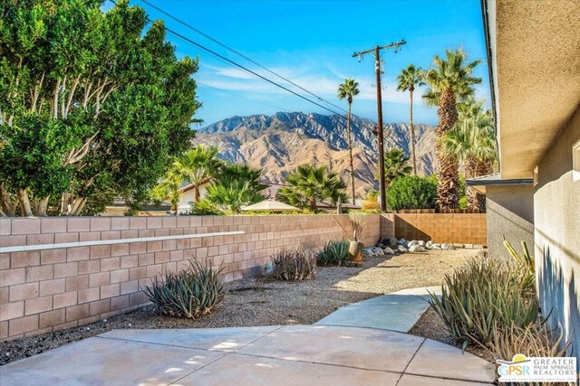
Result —
[[288, 325], [248, 344], [239, 353], [289, 361], [337, 364], [402, 372], [423, 338], [374, 329]]

